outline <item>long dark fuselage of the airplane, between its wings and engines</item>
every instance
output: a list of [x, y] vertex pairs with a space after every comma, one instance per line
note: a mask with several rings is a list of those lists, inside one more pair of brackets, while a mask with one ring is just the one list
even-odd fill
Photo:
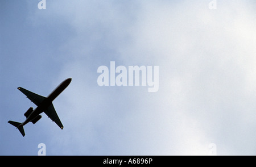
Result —
[[33, 110], [31, 112], [30, 115], [27, 116], [27, 119], [20, 124], [20, 126], [24, 126], [25, 124], [27, 124], [28, 122], [31, 122], [33, 119], [35, 119], [37, 116], [39, 116], [39, 114], [41, 114], [42, 112], [44, 112], [45, 110], [47, 110], [47, 108], [52, 104], [52, 101], [58, 96], [60, 95], [60, 93], [65, 90], [69, 83], [71, 82], [71, 78], [68, 78], [67, 80], [63, 81], [60, 83], [59, 86], [56, 87], [55, 90], [52, 91], [51, 94], [48, 95], [47, 98], [45, 98], [43, 100], [42, 103], [40, 103], [40, 105], [38, 107], [35, 108], [35, 110]]

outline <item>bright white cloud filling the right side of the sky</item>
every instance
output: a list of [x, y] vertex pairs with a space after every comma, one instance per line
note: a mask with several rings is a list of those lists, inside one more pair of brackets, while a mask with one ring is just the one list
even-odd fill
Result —
[[[169, 144], [179, 145], [176, 153], [181, 155], [204, 155], [211, 142], [220, 144], [220, 155], [253, 153], [255, 148], [249, 145], [254, 144], [247, 140], [255, 135], [246, 128], [255, 127], [250, 98], [255, 99], [251, 91], [255, 90], [256, 25], [248, 4], [226, 2], [216, 11], [204, 3], [165, 5], [147, 4], [142, 9], [131, 33], [134, 41], [121, 53], [127, 61], [159, 65], [160, 98], [148, 103], [168, 108], [165, 116], [176, 116], [162, 122], [180, 118], [174, 126], [180, 133], [173, 132]], [[234, 140], [237, 133], [247, 140]]]

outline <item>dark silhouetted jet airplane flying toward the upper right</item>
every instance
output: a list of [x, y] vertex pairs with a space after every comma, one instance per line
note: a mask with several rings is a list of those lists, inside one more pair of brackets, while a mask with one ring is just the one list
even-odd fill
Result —
[[28, 110], [25, 112], [24, 116], [26, 116], [26, 120], [23, 123], [20, 122], [14, 122], [12, 120], [9, 120], [8, 123], [12, 124], [18, 130], [20, 133], [22, 133], [22, 136], [25, 136], [24, 128], [23, 126], [29, 122], [32, 122], [35, 124], [38, 122], [40, 118], [42, 118], [42, 115], [40, 115], [42, 112], [44, 112], [48, 118], [52, 120], [52, 122], [55, 122], [57, 126], [63, 130], [63, 124], [60, 122], [59, 116], [57, 115], [55, 108], [52, 105], [52, 101], [60, 95], [60, 93], [66, 89], [71, 82], [72, 78], [68, 78], [65, 81], [61, 82], [59, 86], [56, 87], [55, 90], [52, 91], [51, 94], [48, 95], [48, 97], [43, 97], [42, 95], [38, 95], [35, 93], [32, 93], [31, 91], [28, 91], [26, 89], [23, 89], [22, 87], [18, 87], [18, 90], [20, 90], [23, 94], [27, 96], [28, 99], [31, 100], [31, 102], [35, 103], [36, 107], [35, 110], [33, 110], [33, 107], [28, 108]]

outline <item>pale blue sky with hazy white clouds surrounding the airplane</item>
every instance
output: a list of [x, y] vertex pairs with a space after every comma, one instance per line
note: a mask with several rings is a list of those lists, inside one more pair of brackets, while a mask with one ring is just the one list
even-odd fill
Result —
[[[38, 3], [0, 2], [0, 155], [256, 155], [255, 1]], [[99, 86], [111, 61], [159, 66], [158, 91]], [[47, 97], [69, 77], [63, 130], [7, 123], [36, 107], [17, 87]]]

